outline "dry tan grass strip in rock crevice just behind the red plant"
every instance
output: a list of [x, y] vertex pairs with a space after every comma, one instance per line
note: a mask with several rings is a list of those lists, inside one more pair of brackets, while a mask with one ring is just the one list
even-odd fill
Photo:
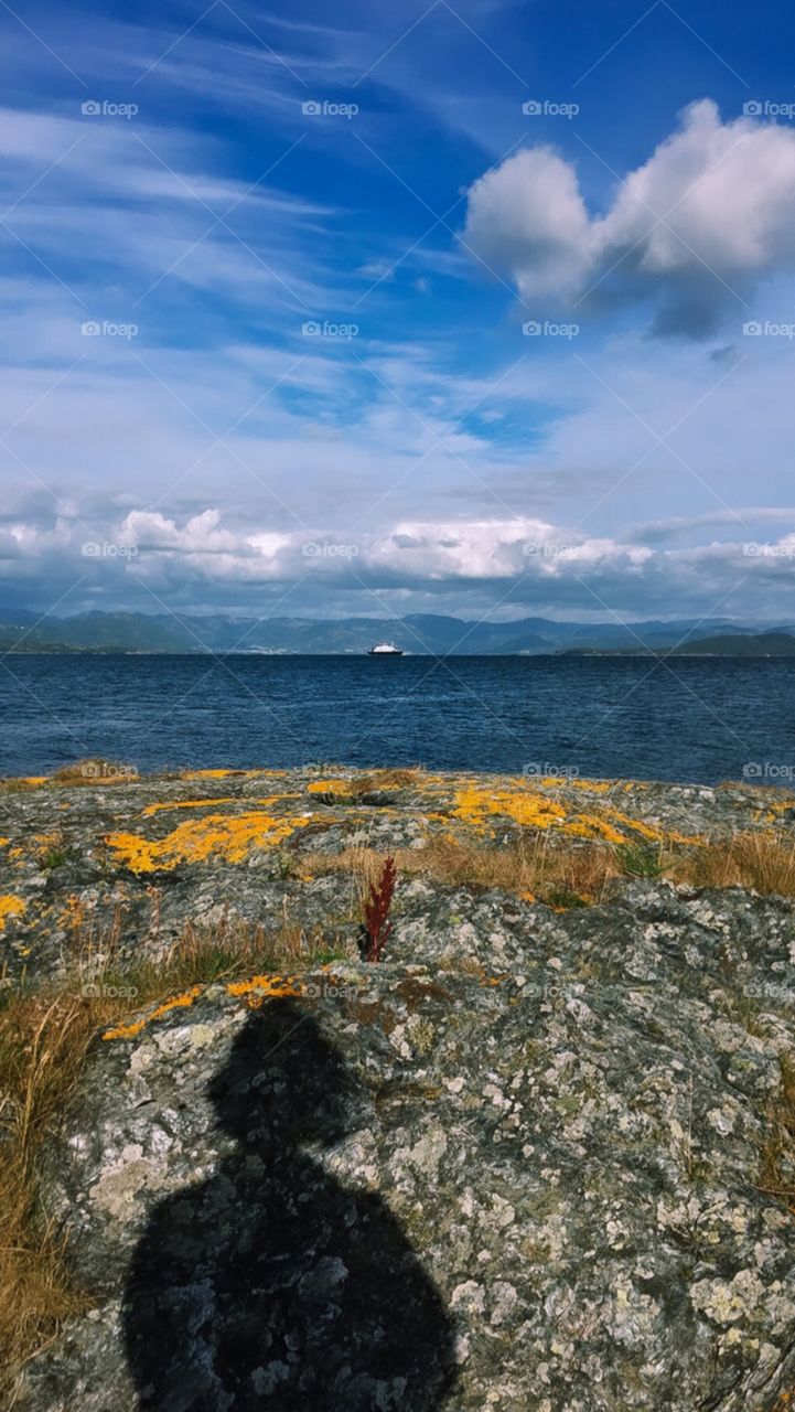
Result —
[[[503, 888], [538, 897], [552, 905], [600, 901], [610, 878], [617, 877], [616, 850], [606, 844], [555, 847], [541, 834], [503, 847], [435, 839], [421, 849], [393, 851], [398, 874], [425, 874], [453, 887]], [[359, 904], [383, 873], [385, 854], [363, 844], [332, 856], [304, 856], [306, 871], [349, 873]]]

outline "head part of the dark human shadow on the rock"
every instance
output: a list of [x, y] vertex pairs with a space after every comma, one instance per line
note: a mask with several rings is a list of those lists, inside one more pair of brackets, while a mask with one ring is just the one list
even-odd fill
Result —
[[241, 1144], [332, 1145], [356, 1128], [361, 1104], [343, 1059], [292, 1000], [251, 1011], [208, 1091], [220, 1130]]

